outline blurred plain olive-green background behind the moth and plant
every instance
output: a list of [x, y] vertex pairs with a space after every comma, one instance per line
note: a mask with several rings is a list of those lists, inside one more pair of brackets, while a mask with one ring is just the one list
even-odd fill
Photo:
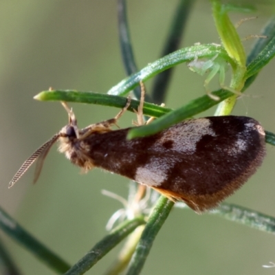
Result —
[[[155, 61], [166, 39], [176, 0], [128, 1], [135, 58], [141, 69]], [[259, 19], [243, 23], [241, 37], [258, 34], [272, 9], [259, 7]], [[232, 14], [234, 22], [247, 14]], [[197, 1], [186, 26], [182, 47], [219, 43], [208, 1]], [[249, 52], [254, 41], [245, 41]], [[105, 93], [125, 77], [120, 57], [116, 1], [1, 1], [0, 2], [0, 173], [1, 206], [43, 243], [69, 263], [76, 263], [105, 234], [118, 201], [102, 189], [123, 197], [129, 181], [95, 169], [80, 175], [56, 146], [46, 159], [36, 186], [33, 168], [8, 190], [8, 182], [23, 161], [67, 124], [58, 102], [36, 102], [39, 91], [77, 89]], [[235, 115], [259, 120], [275, 132], [274, 67], [263, 69], [234, 109]], [[166, 106], [177, 108], [205, 93], [204, 78], [177, 66]], [[145, 83], [148, 92], [150, 81]], [[213, 89], [219, 87], [214, 80]], [[72, 105], [72, 104], [71, 104]], [[73, 104], [80, 127], [113, 118], [118, 109]], [[212, 115], [214, 109], [203, 115]], [[120, 126], [131, 125], [127, 113]], [[227, 201], [275, 215], [275, 151], [258, 173]], [[24, 274], [54, 274], [32, 254], [5, 237], [5, 245]], [[103, 274], [118, 248], [87, 274]], [[159, 232], [142, 274], [274, 274], [275, 236], [208, 214], [174, 209]]]

